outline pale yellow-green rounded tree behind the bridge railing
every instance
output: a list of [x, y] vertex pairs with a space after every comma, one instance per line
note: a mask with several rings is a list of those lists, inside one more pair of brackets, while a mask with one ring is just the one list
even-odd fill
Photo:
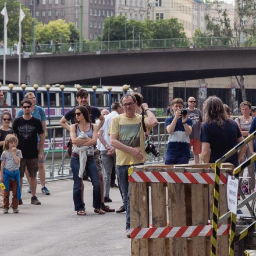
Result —
[[52, 20], [45, 25], [39, 23], [35, 26], [36, 41], [40, 44], [47, 44], [51, 40], [54, 42], [58, 40], [60, 43], [69, 42], [70, 34], [69, 24], [62, 19]]

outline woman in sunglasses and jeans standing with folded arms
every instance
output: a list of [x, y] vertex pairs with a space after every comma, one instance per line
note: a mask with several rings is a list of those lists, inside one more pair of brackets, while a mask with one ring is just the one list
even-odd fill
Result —
[[80, 165], [83, 163], [81, 159], [82, 154], [80, 154], [80, 152], [77, 153], [76, 148], [87, 147], [88, 150], [85, 150], [83, 154], [87, 155], [86, 169], [91, 179], [91, 183], [93, 184], [94, 212], [97, 214], [105, 214], [101, 209], [101, 189], [99, 185], [98, 170], [93, 159], [94, 151], [90, 150], [90, 146], [95, 145], [97, 142], [98, 126], [91, 123], [88, 109], [85, 106], [77, 106], [74, 115], [76, 124], [70, 126], [70, 137], [73, 143], [70, 167], [72, 168], [74, 180], [74, 211], [76, 211], [77, 215], [86, 215], [81, 190], [83, 176], [80, 177], [79, 175]]

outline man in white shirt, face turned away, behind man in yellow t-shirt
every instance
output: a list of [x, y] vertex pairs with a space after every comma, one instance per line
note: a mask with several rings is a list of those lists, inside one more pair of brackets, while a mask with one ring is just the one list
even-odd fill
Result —
[[104, 125], [98, 132], [98, 139], [101, 142], [99, 151], [101, 152], [103, 179], [104, 179], [104, 200], [109, 198], [109, 190], [111, 185], [111, 172], [113, 165], [116, 163], [115, 148], [110, 145], [110, 136], [108, 135], [108, 129], [111, 124], [111, 120], [114, 116], [118, 116], [123, 113], [123, 107], [119, 102], [114, 102], [111, 106], [112, 112], [105, 116]]

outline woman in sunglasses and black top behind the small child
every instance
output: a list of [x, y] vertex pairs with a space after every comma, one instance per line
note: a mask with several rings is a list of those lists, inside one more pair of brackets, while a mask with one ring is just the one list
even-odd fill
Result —
[[[13, 134], [13, 130], [10, 129], [10, 123], [12, 122], [12, 115], [10, 112], [4, 111], [1, 115], [1, 123], [0, 126], [0, 157], [3, 152], [3, 143], [5, 142], [5, 137], [8, 134]], [[2, 197], [3, 197], [3, 190], [0, 189], [0, 207], [2, 206]]]

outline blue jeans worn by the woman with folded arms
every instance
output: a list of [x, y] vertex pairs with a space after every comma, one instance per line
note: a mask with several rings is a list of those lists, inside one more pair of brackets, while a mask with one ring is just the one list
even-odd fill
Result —
[[[81, 211], [84, 209], [84, 202], [82, 200], [81, 182], [79, 175], [79, 157], [71, 157], [70, 167], [73, 172], [73, 200], [74, 211]], [[101, 208], [101, 187], [99, 185], [98, 170], [93, 159], [87, 159], [86, 169], [93, 184], [93, 207]]]

